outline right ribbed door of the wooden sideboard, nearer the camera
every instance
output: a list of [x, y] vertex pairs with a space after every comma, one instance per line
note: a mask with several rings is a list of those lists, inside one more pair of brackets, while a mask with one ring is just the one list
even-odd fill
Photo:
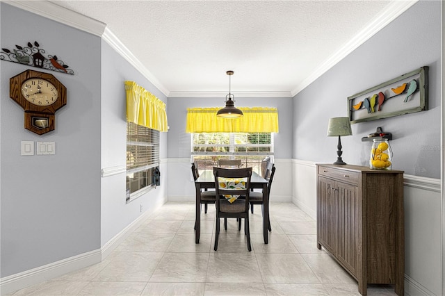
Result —
[[359, 213], [359, 196], [357, 186], [337, 182], [338, 197], [338, 240], [337, 259], [357, 277], [358, 254], [362, 247], [359, 245], [361, 235], [361, 219]]

